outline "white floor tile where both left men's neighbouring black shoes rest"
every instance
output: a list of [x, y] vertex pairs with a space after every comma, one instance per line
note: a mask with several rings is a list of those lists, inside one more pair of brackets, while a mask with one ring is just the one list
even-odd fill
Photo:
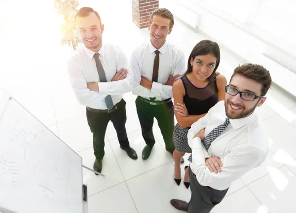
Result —
[[127, 156], [126, 152], [119, 147], [117, 139], [109, 141], [125, 180], [136, 177], [170, 161], [158, 142], [155, 142], [149, 158], [147, 160], [142, 159], [142, 150], [146, 143], [142, 137], [141, 130], [128, 134], [128, 138], [130, 146], [138, 154], [137, 160], [133, 160]]

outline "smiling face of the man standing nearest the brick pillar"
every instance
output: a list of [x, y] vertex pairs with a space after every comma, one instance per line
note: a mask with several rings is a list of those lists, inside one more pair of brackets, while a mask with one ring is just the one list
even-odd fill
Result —
[[170, 19], [154, 15], [151, 24], [148, 24], [148, 30], [150, 31], [151, 44], [156, 49], [159, 49], [172, 31], [172, 28], [170, 29]]

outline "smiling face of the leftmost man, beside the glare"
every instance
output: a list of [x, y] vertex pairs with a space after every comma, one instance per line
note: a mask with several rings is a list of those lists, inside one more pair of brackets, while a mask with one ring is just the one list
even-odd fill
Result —
[[79, 31], [81, 41], [85, 47], [98, 52], [102, 46], [102, 33], [104, 25], [94, 12], [85, 17], [76, 17], [76, 27]]

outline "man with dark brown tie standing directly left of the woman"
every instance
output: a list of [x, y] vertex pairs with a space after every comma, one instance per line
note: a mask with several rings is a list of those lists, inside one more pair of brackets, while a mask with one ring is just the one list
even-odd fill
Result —
[[131, 55], [131, 69], [139, 84], [137, 113], [146, 146], [142, 158], [148, 159], [155, 143], [152, 126], [154, 117], [163, 136], [166, 150], [173, 153], [174, 108], [172, 85], [185, 73], [185, 55], [166, 41], [174, 25], [173, 14], [165, 8], [155, 9], [149, 20], [150, 41], [137, 47]]

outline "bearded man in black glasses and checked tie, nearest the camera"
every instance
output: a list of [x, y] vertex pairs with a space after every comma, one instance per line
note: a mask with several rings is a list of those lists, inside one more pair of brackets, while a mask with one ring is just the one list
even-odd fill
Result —
[[191, 199], [171, 200], [188, 213], [209, 213], [224, 198], [231, 183], [263, 163], [268, 136], [256, 115], [271, 85], [262, 66], [237, 67], [225, 87], [225, 101], [218, 102], [188, 132], [192, 148], [189, 167]]

